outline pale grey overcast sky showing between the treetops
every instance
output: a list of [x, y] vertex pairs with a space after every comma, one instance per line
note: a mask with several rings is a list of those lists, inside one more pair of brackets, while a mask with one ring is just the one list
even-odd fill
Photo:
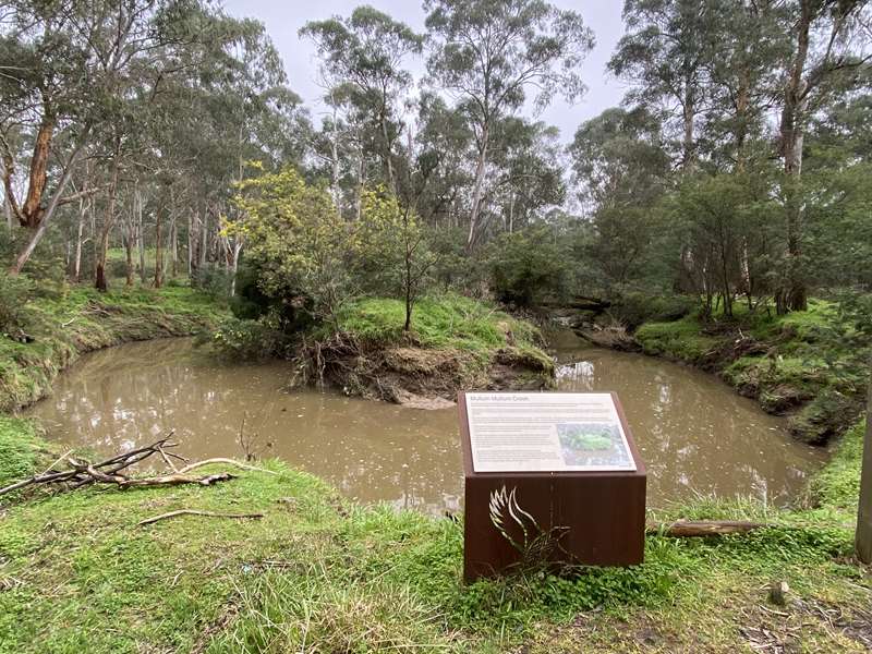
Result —
[[[571, 141], [579, 124], [604, 109], [620, 102], [623, 85], [606, 72], [606, 62], [623, 33], [620, 20], [621, 0], [552, 0], [554, 4], [581, 12], [588, 26], [596, 36], [596, 47], [582, 66], [582, 77], [588, 93], [576, 105], [560, 98], [538, 118], [560, 128], [564, 141]], [[262, 21], [284, 59], [291, 88], [300, 94], [314, 114], [320, 109], [320, 89], [315, 84], [317, 60], [315, 48], [308, 39], [296, 33], [307, 21], [334, 15], [348, 16], [360, 4], [371, 4], [409, 24], [417, 32], [424, 31], [424, 11], [415, 0], [225, 0], [227, 11], [234, 16], [250, 16]], [[409, 68], [416, 76], [423, 75], [423, 60], [410, 61]]]

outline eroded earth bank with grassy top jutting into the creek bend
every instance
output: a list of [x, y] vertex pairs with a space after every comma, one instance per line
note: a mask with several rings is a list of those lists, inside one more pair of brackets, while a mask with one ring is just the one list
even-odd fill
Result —
[[398, 300], [354, 302], [335, 328], [306, 338], [295, 384], [325, 383], [346, 395], [415, 408], [451, 405], [463, 389], [543, 390], [554, 385], [554, 361], [538, 330], [460, 295], [421, 300], [413, 330], [402, 331]]

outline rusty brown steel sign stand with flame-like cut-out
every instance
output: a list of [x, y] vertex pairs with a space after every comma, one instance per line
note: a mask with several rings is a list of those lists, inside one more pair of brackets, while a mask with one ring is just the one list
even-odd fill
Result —
[[[491, 514], [493, 494], [514, 489], [517, 506], [532, 517], [531, 535], [545, 533], [553, 547], [546, 558], [560, 564], [631, 566], [644, 558], [644, 464], [620, 401], [610, 393], [635, 463], [634, 471], [475, 472], [465, 393], [458, 397], [464, 472], [463, 576], [467, 581], [493, 577], [517, 566], [524, 542], [523, 528], [513, 520], [504, 525], [512, 545], [495, 526]], [[504, 496], [505, 497], [505, 496]], [[518, 513], [518, 511], [516, 511]], [[522, 522], [531, 522], [522, 514]]]

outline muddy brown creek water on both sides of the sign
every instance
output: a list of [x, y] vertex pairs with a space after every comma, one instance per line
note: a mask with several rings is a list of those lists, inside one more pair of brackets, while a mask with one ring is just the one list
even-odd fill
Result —
[[[618, 392], [649, 472], [649, 505], [695, 494], [752, 495], [784, 504], [825, 453], [790, 438], [711, 375], [591, 348], [552, 335], [562, 390]], [[172, 428], [178, 451], [240, 457], [240, 427], [263, 456], [312, 472], [363, 502], [427, 512], [458, 510], [462, 472], [455, 409], [424, 411], [282, 390], [283, 363], [229, 364], [190, 339], [130, 343], [84, 356], [27, 413], [49, 437], [106, 455], [146, 445]]]

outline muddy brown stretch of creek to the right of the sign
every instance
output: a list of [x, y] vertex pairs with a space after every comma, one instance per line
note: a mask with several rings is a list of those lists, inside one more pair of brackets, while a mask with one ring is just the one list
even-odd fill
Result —
[[617, 391], [647, 468], [650, 505], [692, 494], [783, 504], [824, 459], [712, 375], [589, 348], [569, 331], [552, 343], [560, 389]]

